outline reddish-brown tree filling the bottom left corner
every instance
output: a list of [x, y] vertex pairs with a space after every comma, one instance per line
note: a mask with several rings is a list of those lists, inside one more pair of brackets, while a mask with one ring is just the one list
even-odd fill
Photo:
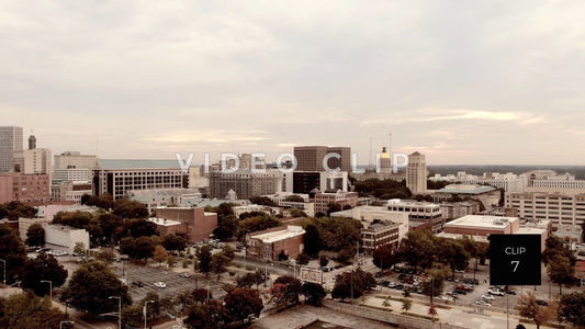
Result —
[[59, 328], [60, 321], [67, 319], [58, 308], [52, 307], [48, 297], [40, 298], [32, 292], [14, 294], [1, 302], [1, 328]]

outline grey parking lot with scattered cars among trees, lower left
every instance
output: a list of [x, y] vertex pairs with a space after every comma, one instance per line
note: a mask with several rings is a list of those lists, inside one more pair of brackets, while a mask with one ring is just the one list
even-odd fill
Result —
[[[114, 269], [115, 274], [120, 277], [123, 277], [121, 265]], [[189, 272], [190, 277], [183, 277], [179, 273], [169, 271], [164, 266], [149, 268], [126, 264], [124, 272], [126, 274], [125, 280], [128, 285], [128, 293], [134, 302], [144, 299], [149, 292], [156, 292], [160, 297], [175, 298], [181, 293], [193, 291], [195, 287], [206, 288], [207, 283], [210, 293], [214, 298], [221, 298], [226, 295], [221, 283], [211, 280], [206, 281], [204, 275], [201, 274], [195, 276], [193, 271]], [[140, 282], [143, 286], [134, 286], [132, 282]], [[155, 286], [156, 282], [164, 282], [166, 287]]]

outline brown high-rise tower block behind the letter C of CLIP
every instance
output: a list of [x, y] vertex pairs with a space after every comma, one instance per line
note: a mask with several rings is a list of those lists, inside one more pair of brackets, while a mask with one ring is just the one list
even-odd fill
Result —
[[329, 154], [337, 154], [340, 158], [331, 157], [327, 161], [330, 169], [339, 168], [340, 171], [351, 170], [351, 148], [327, 146], [297, 146], [294, 148], [296, 171], [326, 171], [323, 159]]

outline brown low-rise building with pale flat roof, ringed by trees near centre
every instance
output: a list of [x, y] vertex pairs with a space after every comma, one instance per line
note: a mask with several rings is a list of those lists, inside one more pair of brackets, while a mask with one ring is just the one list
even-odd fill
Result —
[[277, 261], [283, 252], [295, 259], [304, 251], [305, 230], [300, 226], [274, 227], [246, 236], [249, 254]]

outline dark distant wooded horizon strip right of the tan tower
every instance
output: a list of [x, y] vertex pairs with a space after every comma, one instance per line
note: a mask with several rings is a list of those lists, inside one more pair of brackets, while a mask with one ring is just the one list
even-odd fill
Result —
[[529, 170], [548, 169], [554, 170], [559, 173], [569, 172], [574, 174], [577, 180], [585, 180], [585, 166], [509, 166], [509, 164], [460, 164], [460, 166], [428, 166], [430, 175], [440, 173], [442, 175], [448, 173], [457, 173], [458, 171], [464, 171], [471, 174], [481, 175], [484, 172], [514, 172], [522, 173]]

